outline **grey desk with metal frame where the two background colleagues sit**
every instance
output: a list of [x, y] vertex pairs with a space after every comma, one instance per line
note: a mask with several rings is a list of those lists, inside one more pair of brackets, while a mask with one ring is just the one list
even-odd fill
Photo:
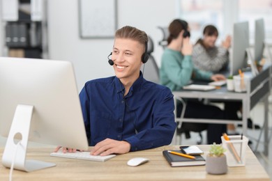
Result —
[[[255, 105], [264, 101], [264, 155], [269, 154], [269, 136], [268, 136], [268, 112], [269, 112], [269, 95], [271, 89], [271, 72], [272, 66], [267, 66], [257, 76], [252, 77], [247, 85], [245, 93], [236, 93], [227, 91], [225, 86], [213, 91], [173, 91], [173, 95], [182, 98], [197, 98], [197, 99], [210, 99], [210, 100], [241, 100], [243, 104], [243, 134], [247, 136], [247, 121], [250, 117], [250, 110]], [[195, 119], [195, 118], [176, 118], [177, 122], [190, 122], [190, 123], [241, 123], [241, 120], [208, 120], [208, 119]], [[175, 133], [176, 136], [176, 133]]]

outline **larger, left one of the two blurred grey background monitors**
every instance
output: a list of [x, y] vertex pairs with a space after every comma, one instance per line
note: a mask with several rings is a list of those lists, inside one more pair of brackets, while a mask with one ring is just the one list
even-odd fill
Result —
[[249, 47], [248, 22], [234, 24], [232, 37], [232, 58], [230, 61], [230, 74], [239, 74], [239, 69], [248, 67], [246, 49]]

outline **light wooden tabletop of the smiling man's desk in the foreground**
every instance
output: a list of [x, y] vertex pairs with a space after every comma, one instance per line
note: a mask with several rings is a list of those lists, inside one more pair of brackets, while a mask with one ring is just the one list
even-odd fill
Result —
[[[199, 145], [204, 157], [209, 145]], [[245, 167], [228, 168], [225, 175], [209, 175], [205, 166], [171, 167], [163, 157], [163, 150], [179, 149], [169, 145], [151, 150], [117, 155], [107, 162], [90, 162], [78, 159], [50, 157], [53, 147], [29, 148], [27, 157], [44, 162], [54, 162], [55, 167], [25, 173], [13, 171], [14, 180], [270, 180], [264, 168], [248, 148]], [[2, 157], [3, 148], [0, 148]], [[149, 162], [137, 167], [127, 166], [128, 159], [147, 157]], [[9, 168], [0, 166], [0, 180], [8, 180]]]

